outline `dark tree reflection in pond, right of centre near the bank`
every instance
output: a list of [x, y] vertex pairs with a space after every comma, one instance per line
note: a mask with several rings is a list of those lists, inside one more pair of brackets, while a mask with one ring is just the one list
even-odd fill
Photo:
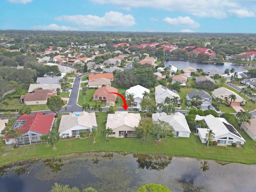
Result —
[[147, 170], [163, 170], [172, 162], [172, 157], [162, 155], [133, 154], [133, 157], [137, 158], [138, 168]]

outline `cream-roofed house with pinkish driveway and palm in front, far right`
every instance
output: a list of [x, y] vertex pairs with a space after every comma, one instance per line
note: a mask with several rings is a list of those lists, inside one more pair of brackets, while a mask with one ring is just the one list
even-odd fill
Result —
[[236, 94], [234, 91], [231, 91], [227, 88], [221, 87], [218, 89], [214, 89], [214, 91], [212, 92], [212, 97], [215, 98], [221, 98], [221, 99], [225, 99], [227, 101], [228, 104], [231, 103], [229, 96], [234, 94], [236, 96], [236, 100], [232, 101], [232, 106], [240, 106], [240, 104], [246, 104], [246, 100], [244, 100], [244, 98], [242, 98], [241, 96], [239, 96], [238, 94]]

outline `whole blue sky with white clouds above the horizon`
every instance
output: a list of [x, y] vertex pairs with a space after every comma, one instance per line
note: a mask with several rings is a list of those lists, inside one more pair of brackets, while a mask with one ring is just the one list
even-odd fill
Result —
[[256, 0], [0, 0], [0, 29], [256, 33]]

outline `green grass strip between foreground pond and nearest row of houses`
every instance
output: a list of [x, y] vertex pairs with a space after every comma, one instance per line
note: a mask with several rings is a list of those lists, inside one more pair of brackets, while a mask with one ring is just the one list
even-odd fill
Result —
[[96, 118], [98, 135], [96, 136], [95, 144], [93, 144], [93, 138], [60, 140], [56, 144], [57, 150], [53, 150], [52, 146], [46, 147], [46, 143], [33, 144], [10, 150], [6, 156], [2, 156], [4, 150], [0, 149], [0, 165], [18, 160], [43, 158], [60, 154], [100, 151], [166, 154], [170, 156], [188, 156], [198, 159], [256, 164], [254, 142], [245, 132], [240, 132], [247, 141], [244, 144], [244, 148], [234, 148], [232, 146], [210, 146], [206, 148], [206, 144], [202, 144], [200, 138], [195, 136], [193, 132], [190, 134], [190, 138], [163, 139], [160, 143], [155, 142], [154, 138], [147, 138], [143, 142], [141, 138], [112, 137], [110, 137], [109, 142], [106, 142], [106, 138], [100, 134], [101, 130], [105, 128], [103, 121], [106, 118], [106, 112], [99, 113], [99, 117]]

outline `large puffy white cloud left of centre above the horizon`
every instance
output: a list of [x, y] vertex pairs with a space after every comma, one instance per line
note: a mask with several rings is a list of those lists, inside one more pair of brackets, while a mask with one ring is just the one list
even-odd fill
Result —
[[135, 25], [132, 15], [124, 15], [120, 12], [106, 12], [103, 17], [93, 15], [62, 15], [55, 18], [56, 21], [74, 23], [84, 29], [94, 28], [126, 28]]

